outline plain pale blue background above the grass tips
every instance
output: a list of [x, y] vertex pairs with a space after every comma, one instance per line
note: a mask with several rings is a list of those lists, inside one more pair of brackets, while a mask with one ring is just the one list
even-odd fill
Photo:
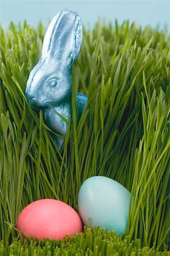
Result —
[[170, 28], [169, 21], [169, 0], [112, 0], [112, 1], [7, 1], [0, 0], [0, 23], [7, 28], [10, 20], [14, 24], [18, 21], [27, 20], [28, 24], [36, 27], [41, 19], [45, 26], [49, 20], [58, 12], [65, 8], [77, 11], [84, 25], [90, 24], [93, 27], [98, 17], [101, 19], [118, 19], [121, 23], [129, 19], [130, 23], [136, 21], [138, 25], [146, 26], [150, 24], [155, 28], [163, 29], [165, 25]]

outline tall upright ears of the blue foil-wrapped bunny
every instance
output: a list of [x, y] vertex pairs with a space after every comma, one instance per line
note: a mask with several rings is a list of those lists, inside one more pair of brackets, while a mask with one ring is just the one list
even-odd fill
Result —
[[56, 15], [45, 34], [42, 56], [55, 61], [71, 63], [76, 61], [82, 43], [80, 17], [67, 9]]

